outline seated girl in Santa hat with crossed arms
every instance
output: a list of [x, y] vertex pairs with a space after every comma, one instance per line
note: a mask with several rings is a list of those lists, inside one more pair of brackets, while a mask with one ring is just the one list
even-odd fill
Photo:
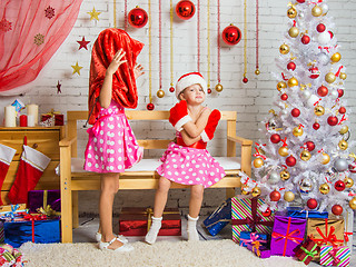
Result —
[[156, 241], [161, 227], [162, 212], [171, 182], [190, 186], [188, 240], [199, 240], [196, 228], [202, 201], [204, 188], [218, 182], [224, 168], [210, 156], [207, 141], [212, 139], [220, 119], [220, 112], [202, 107], [207, 83], [199, 72], [190, 72], [179, 78], [176, 85], [178, 102], [170, 109], [169, 121], [175, 127], [176, 142], [169, 144], [157, 168], [161, 176], [155, 196], [152, 225], [146, 235], [148, 244]]

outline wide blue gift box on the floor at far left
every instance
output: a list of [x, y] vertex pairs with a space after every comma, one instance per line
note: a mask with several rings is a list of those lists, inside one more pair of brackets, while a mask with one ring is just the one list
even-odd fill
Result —
[[[16, 219], [3, 222], [4, 243], [20, 247], [23, 243], [32, 241], [32, 221]], [[34, 243], [60, 243], [59, 219], [34, 220]]]

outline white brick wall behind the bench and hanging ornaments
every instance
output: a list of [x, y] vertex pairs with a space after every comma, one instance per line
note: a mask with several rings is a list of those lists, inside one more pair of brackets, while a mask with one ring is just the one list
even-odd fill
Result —
[[[128, 1], [128, 10], [135, 8], [136, 4], [140, 4], [146, 11], [148, 11], [147, 1], [136, 1], [132, 3]], [[162, 1], [162, 85], [166, 91], [166, 97], [159, 99], [156, 97], [156, 91], [159, 86], [158, 77], [158, 1], [151, 1], [151, 21], [152, 21], [152, 96], [156, 109], [169, 109], [176, 99], [172, 93], [168, 91], [170, 87], [170, 51], [169, 51], [169, 1]], [[177, 3], [178, 0], [174, 1]], [[194, 1], [196, 2], [196, 1]], [[211, 1], [210, 12], [210, 37], [211, 37], [211, 66], [210, 77], [211, 87], [217, 83], [217, 7], [216, 1]], [[220, 93], [214, 91], [208, 97], [207, 105], [212, 108], [221, 110], [237, 110], [238, 111], [238, 135], [257, 140], [261, 138], [258, 127], [259, 122], [268, 115], [268, 110], [273, 108], [273, 100], [277, 96], [276, 80], [271, 76], [271, 72], [276, 71], [275, 58], [278, 55], [278, 48], [281, 43], [283, 37], [287, 30], [288, 18], [287, 0], [265, 0], [259, 1], [259, 63], [261, 75], [255, 76], [255, 1], [247, 1], [247, 57], [248, 57], [248, 72], [247, 77], [249, 82], [244, 85], [241, 82], [244, 72], [244, 40], [237, 46], [228, 47], [222, 41], [221, 48], [221, 85], [224, 90]], [[200, 1], [200, 71], [207, 77], [207, 4], [206, 1]], [[234, 23], [244, 31], [244, 6], [243, 1], [221, 0], [221, 30], [229, 23]], [[356, 78], [355, 78], [355, 62], [356, 62], [356, 27], [355, 19], [353, 19], [354, 12], [356, 12], [356, 2], [352, 0], [327, 1], [329, 6], [328, 17], [334, 18], [336, 28], [333, 30], [338, 39], [338, 44], [342, 46], [340, 53], [343, 56], [343, 63], [347, 67], [347, 80], [345, 97], [348, 99], [348, 110], [356, 108]], [[99, 14], [99, 21], [90, 21], [87, 12], [96, 8]], [[79, 12], [78, 20], [75, 28], [68, 36], [67, 40], [59, 48], [57, 53], [52, 57], [46, 68], [41, 71], [39, 78], [27, 86], [31, 89], [23, 97], [18, 97], [26, 103], [32, 102], [39, 105], [40, 112], [47, 112], [51, 108], [63, 113], [67, 110], [85, 110], [87, 109], [88, 98], [88, 73], [90, 62], [90, 50], [92, 43], [96, 40], [97, 34], [105, 28], [113, 26], [113, 1], [112, 0], [83, 0], [81, 10]], [[117, 20], [118, 27], [123, 28], [123, 1], [117, 1]], [[175, 17], [174, 20], [174, 69], [175, 81], [177, 78], [186, 71], [195, 71], [197, 68], [197, 14], [188, 20], [181, 21]], [[139, 56], [139, 62], [146, 67], [146, 75], [138, 80], [139, 88], [139, 105], [138, 109], [146, 109], [148, 102], [148, 24], [142, 29], [129, 28], [128, 32], [136, 39], [142, 41], [146, 46]], [[89, 50], [78, 50], [77, 40], [81, 40], [82, 37], [89, 40]], [[81, 75], [72, 75], [71, 65], [76, 61], [83, 68]], [[57, 95], [57, 81], [60, 80], [62, 87], [62, 93]], [[11, 103], [17, 97], [1, 97], [1, 107]], [[3, 108], [0, 109], [0, 121], [3, 119]], [[350, 113], [350, 130], [356, 132], [356, 116]], [[161, 128], [165, 136], [170, 136], [170, 127], [168, 125], [132, 125], [135, 132], [139, 138], [151, 137], [156, 135], [155, 128]], [[212, 155], [224, 155], [224, 126], [218, 130], [216, 135], [215, 145], [210, 146]], [[80, 131], [80, 151], [83, 151], [86, 145], [86, 131]], [[159, 151], [158, 154], [161, 154]], [[148, 157], [155, 156], [152, 154]], [[220, 200], [225, 199], [224, 190], [209, 189], [206, 191], [205, 206], [216, 206]], [[81, 201], [81, 211], [97, 212], [97, 204], [91, 201], [93, 194], [81, 194], [82, 198], [88, 201]], [[169, 206], [177, 206], [186, 208], [188, 206], [188, 191], [186, 190], [172, 190], [170, 192]], [[212, 201], [214, 200], [214, 201]], [[120, 192], [117, 198], [117, 206], [139, 206], [154, 202], [154, 191], [145, 191], [145, 194], [137, 191]]]

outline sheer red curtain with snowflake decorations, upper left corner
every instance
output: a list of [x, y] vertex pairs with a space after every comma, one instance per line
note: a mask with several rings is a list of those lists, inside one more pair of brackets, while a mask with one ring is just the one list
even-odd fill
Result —
[[82, 0], [0, 1], [0, 95], [39, 75], [72, 29]]

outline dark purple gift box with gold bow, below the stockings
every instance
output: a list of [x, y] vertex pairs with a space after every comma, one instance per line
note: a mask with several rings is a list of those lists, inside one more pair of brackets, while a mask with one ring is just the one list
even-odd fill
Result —
[[48, 217], [60, 216], [60, 190], [32, 190], [28, 192], [30, 212], [44, 214]]

